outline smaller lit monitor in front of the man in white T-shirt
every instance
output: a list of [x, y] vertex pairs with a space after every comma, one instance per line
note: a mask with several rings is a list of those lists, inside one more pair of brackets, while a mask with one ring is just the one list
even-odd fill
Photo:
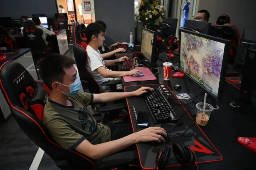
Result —
[[141, 53], [150, 62], [156, 62], [156, 32], [142, 28]]

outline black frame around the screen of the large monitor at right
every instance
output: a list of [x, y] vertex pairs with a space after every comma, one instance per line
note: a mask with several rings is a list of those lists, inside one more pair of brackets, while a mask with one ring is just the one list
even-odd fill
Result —
[[[217, 37], [209, 36], [209, 35], [206, 35], [206, 34], [201, 34], [201, 33], [193, 32], [193, 31], [189, 31], [189, 30], [184, 30], [184, 29], [179, 29], [179, 38], [180, 38], [180, 40], [181, 40], [181, 32], [184, 32], [184, 33], [187, 33], [187, 34], [192, 34], [192, 35], [195, 35], [195, 36], [200, 36], [202, 38], [207, 38], [209, 40], [213, 40], [213, 41], [225, 44], [224, 53], [223, 53], [223, 59], [222, 59], [222, 67], [221, 67], [221, 72], [220, 72], [220, 83], [219, 83], [219, 89], [218, 89], [217, 97], [214, 94], [212, 94], [212, 92], [208, 91], [205, 87], [202, 87], [202, 85], [200, 85], [196, 80], [194, 80], [191, 77], [189, 77], [187, 75], [186, 71], [183, 71], [182, 69], [180, 69], [180, 60], [179, 60], [179, 71], [182, 71], [187, 77], [192, 79], [204, 91], [206, 91], [212, 97], [217, 99], [217, 101], [219, 101], [220, 100], [220, 96], [222, 95], [222, 91], [224, 90], [224, 83], [225, 83], [225, 79], [226, 79], [226, 71], [228, 69], [228, 57], [229, 57], [229, 49], [230, 49], [231, 41], [230, 40], [226, 40], [226, 39], [222, 39], [222, 38], [217, 38]], [[181, 57], [181, 52], [179, 52], [179, 57]]]

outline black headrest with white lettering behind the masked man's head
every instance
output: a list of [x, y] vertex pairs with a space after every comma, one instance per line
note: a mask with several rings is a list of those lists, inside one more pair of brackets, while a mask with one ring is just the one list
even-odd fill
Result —
[[37, 82], [20, 63], [7, 61], [0, 67], [0, 87], [8, 95], [9, 105], [23, 107], [21, 94], [26, 94], [28, 87], [36, 89]]

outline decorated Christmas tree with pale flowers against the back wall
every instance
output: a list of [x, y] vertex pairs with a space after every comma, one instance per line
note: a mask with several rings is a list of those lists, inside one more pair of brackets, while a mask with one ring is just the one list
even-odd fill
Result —
[[161, 0], [142, 0], [136, 20], [143, 22], [150, 30], [157, 30], [164, 17]]

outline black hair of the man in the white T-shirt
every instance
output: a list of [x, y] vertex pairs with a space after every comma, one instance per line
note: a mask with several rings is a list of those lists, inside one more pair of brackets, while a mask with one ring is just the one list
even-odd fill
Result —
[[90, 40], [92, 39], [92, 36], [98, 37], [100, 32], [105, 32], [104, 27], [98, 23], [91, 23], [86, 27], [84, 33], [88, 42], [90, 42]]

